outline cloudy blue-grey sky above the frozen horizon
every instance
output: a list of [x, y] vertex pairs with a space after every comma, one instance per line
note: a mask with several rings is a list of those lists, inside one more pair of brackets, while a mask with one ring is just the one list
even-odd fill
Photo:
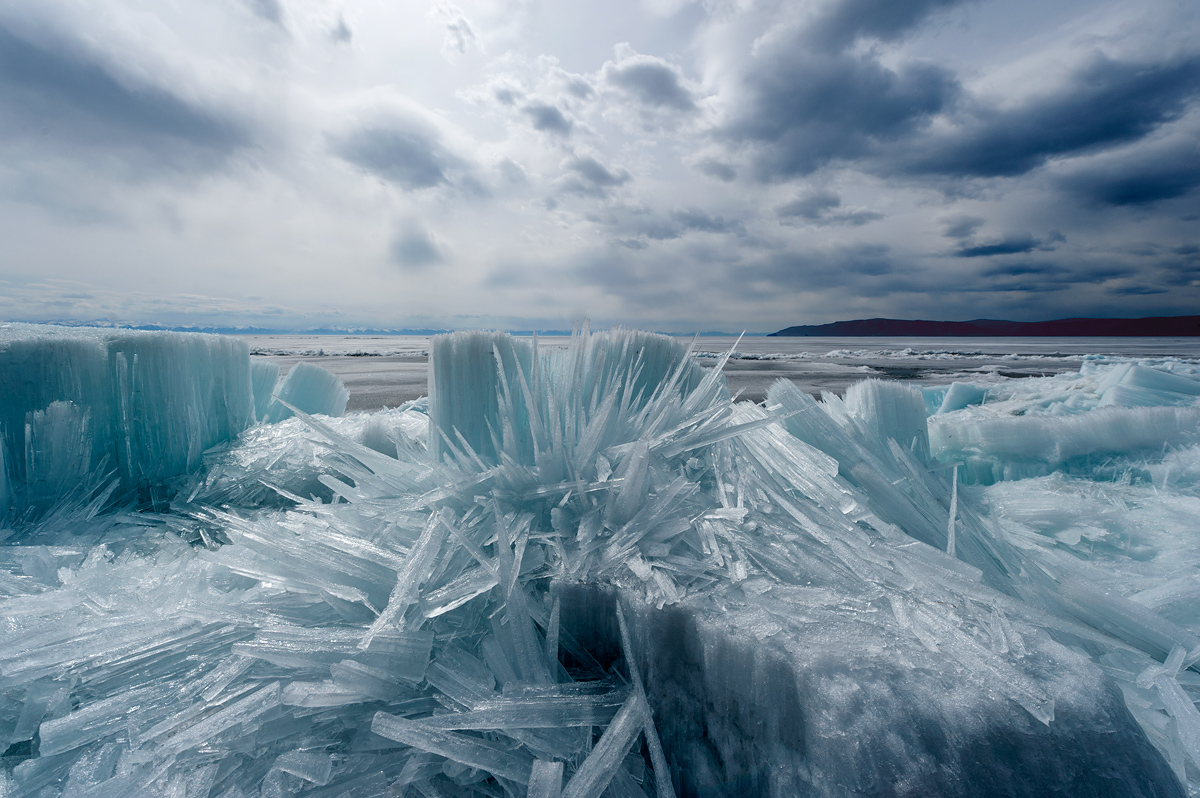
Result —
[[0, 319], [1198, 312], [1194, 0], [0, 0]]

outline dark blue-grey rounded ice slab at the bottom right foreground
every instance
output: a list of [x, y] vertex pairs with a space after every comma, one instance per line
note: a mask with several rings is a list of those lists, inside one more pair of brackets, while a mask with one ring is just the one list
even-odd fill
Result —
[[[846, 613], [833, 596], [775, 588], [768, 602], [722, 595], [713, 613], [690, 601], [656, 612], [595, 586], [560, 590], [564, 629], [601, 658], [619, 650], [614, 604], [634, 610], [638, 667], [682, 794], [1180, 794], [1100, 668], [1044, 635], [1021, 638], [1019, 676], [996, 638], [967, 659], [965, 641], [942, 636], [953, 626], [920, 619], [919, 600], [908, 612], [930, 624], [925, 642], [882, 644], [894, 612], [882, 596], [875, 611], [864, 596]], [[1042, 694], [1030, 700], [1052, 703], [1050, 722], [986, 686], [1019, 689], [1030, 672]]]

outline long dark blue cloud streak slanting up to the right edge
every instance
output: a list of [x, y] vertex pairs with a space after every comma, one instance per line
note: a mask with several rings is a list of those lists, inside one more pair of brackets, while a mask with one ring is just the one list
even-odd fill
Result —
[[954, 130], [914, 142], [883, 167], [907, 174], [996, 178], [1025, 174], [1055, 156], [1123, 144], [1178, 119], [1200, 96], [1200, 56], [1160, 62], [1102, 54], [1058, 90], [1015, 108], [976, 103]]

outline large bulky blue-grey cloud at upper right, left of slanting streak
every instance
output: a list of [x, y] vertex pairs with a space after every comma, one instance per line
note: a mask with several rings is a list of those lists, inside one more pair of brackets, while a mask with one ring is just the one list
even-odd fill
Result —
[[760, 180], [787, 180], [869, 155], [926, 127], [960, 94], [942, 67], [889, 68], [872, 53], [814, 52], [802, 34], [763, 48], [744, 78], [744, 104], [719, 131], [751, 149]]

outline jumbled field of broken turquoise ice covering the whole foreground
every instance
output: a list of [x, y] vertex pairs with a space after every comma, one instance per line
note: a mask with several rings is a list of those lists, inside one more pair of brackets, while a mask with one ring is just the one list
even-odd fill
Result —
[[250, 352], [0, 325], [0, 797], [1200, 793], [1194, 354]]

